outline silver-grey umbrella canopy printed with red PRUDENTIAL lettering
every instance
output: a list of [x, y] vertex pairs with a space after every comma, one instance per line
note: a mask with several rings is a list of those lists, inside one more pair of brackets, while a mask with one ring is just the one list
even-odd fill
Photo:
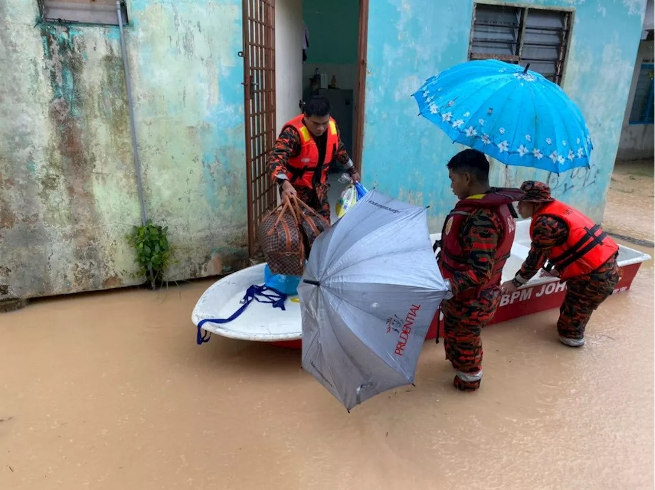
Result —
[[449, 294], [426, 210], [370, 191], [314, 242], [298, 294], [303, 368], [346, 409], [413, 383]]

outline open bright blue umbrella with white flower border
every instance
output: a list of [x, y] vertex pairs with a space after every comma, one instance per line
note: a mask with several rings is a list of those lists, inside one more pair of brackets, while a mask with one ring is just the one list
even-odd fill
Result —
[[588, 167], [591, 138], [580, 109], [540, 73], [476, 60], [435, 75], [413, 94], [420, 115], [455, 143], [506, 165], [560, 174]]

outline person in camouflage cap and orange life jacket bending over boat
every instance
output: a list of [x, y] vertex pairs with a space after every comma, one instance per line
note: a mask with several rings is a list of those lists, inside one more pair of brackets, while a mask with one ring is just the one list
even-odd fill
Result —
[[[532, 217], [530, 253], [513, 280], [502, 285], [513, 293], [539, 269], [559, 275], [567, 293], [559, 309], [559, 341], [569, 347], [584, 345], [584, 330], [591, 313], [612, 294], [621, 273], [616, 263], [618, 245], [603, 229], [568, 204], [555, 200], [542, 182], [521, 185], [521, 217]], [[547, 263], [548, 261], [548, 263]]]

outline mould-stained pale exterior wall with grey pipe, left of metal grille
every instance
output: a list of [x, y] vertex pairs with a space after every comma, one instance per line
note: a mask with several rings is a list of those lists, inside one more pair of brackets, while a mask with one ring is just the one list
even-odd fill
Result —
[[[201, 276], [215, 246], [245, 255], [241, 3], [128, 9], [147, 212], [170, 227], [170, 278]], [[0, 0], [0, 300], [140, 282], [124, 240], [140, 211], [118, 28], [37, 16], [35, 0]]]

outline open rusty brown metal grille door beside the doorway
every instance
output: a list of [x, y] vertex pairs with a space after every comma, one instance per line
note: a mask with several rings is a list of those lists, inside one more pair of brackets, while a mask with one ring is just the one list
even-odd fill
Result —
[[276, 140], [275, 0], [243, 0], [244, 107], [248, 178], [248, 252], [258, 252], [257, 225], [276, 206], [266, 159]]

